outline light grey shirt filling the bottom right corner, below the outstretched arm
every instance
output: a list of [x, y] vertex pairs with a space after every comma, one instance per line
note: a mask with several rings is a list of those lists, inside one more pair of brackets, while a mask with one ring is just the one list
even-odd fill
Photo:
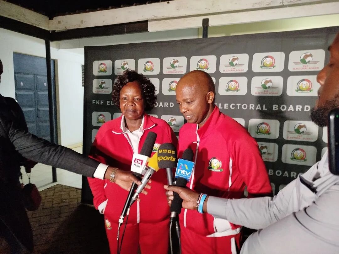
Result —
[[309, 207], [292, 213], [247, 238], [241, 254], [339, 253], [338, 185]]

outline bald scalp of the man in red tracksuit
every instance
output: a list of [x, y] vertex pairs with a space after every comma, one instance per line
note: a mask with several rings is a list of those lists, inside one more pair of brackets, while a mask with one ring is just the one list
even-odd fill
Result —
[[196, 88], [195, 90], [201, 93], [211, 91], [215, 94], [215, 85], [212, 77], [202, 70], [193, 70], [182, 76], [178, 81], [176, 90], [178, 89], [178, 86], [180, 87], [182, 85]]

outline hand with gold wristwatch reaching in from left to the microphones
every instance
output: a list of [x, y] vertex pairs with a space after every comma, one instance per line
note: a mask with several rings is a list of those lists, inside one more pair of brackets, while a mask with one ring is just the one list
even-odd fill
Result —
[[[109, 179], [113, 169], [113, 167], [107, 168], [105, 179]], [[136, 183], [137, 185], [141, 184], [141, 181], [134, 174], [132, 174], [131, 171], [118, 169], [117, 172], [115, 172], [114, 183], [119, 185], [124, 190], [129, 191], [131, 189], [132, 182]], [[151, 183], [151, 180], [149, 180], [148, 183]], [[151, 189], [151, 186], [147, 184], [145, 189]], [[141, 193], [147, 195], [147, 191], [145, 189], [143, 189]]]

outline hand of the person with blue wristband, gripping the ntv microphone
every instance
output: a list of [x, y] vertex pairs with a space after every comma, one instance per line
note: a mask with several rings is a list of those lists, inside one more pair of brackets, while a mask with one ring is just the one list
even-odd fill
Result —
[[197, 209], [197, 199], [199, 197], [198, 193], [186, 187], [165, 185], [164, 188], [167, 190], [166, 196], [167, 196], [168, 205], [172, 204], [173, 192], [176, 192], [183, 199], [182, 208], [190, 209], [190, 210]]

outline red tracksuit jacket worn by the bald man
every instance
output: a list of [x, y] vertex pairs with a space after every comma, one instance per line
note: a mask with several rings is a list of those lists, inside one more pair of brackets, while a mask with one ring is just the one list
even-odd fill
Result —
[[[179, 158], [185, 149], [194, 151], [195, 168], [187, 187], [200, 193], [244, 197], [245, 185], [251, 194], [272, 192], [258, 144], [247, 130], [215, 107], [199, 129], [186, 123], [179, 132]], [[239, 233], [240, 226], [212, 215], [185, 209], [180, 213], [184, 227], [204, 236]]]

